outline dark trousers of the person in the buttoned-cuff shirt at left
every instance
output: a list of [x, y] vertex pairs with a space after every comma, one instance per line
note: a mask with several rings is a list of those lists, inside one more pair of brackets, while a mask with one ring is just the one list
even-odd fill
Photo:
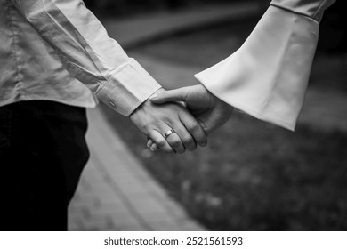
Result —
[[67, 230], [88, 160], [85, 108], [22, 101], [0, 108], [0, 230]]

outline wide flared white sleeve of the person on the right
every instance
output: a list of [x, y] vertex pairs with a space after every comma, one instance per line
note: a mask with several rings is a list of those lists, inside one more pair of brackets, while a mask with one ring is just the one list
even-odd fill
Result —
[[333, 2], [272, 1], [238, 51], [196, 78], [234, 108], [294, 131], [317, 47], [319, 20]]

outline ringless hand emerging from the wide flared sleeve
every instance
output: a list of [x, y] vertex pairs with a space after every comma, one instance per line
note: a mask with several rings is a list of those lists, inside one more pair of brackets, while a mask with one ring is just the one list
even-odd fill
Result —
[[[206, 134], [211, 134], [222, 126], [231, 116], [234, 108], [208, 92], [202, 84], [182, 87], [172, 91], [159, 92], [149, 98], [155, 104], [183, 101], [190, 113], [198, 120]], [[148, 146], [152, 147], [153, 141]]]

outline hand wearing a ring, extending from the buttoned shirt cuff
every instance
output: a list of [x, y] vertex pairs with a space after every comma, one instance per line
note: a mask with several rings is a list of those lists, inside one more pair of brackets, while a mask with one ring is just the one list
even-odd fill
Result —
[[[160, 92], [165, 90], [156, 93]], [[147, 100], [133, 112], [130, 120], [157, 144], [158, 149], [167, 153], [183, 153], [185, 149], [196, 149], [197, 143], [200, 146], [207, 143], [204, 130], [181, 103], [156, 105]], [[164, 134], [170, 130], [174, 133], [165, 139]]]

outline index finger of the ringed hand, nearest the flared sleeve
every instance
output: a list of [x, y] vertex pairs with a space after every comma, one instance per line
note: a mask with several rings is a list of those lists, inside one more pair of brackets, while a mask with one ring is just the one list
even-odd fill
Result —
[[206, 133], [201, 125], [198, 124], [198, 121], [191, 116], [189, 112], [182, 112], [180, 114], [180, 120], [187, 131], [193, 136], [198, 145], [205, 147], [207, 145]]

